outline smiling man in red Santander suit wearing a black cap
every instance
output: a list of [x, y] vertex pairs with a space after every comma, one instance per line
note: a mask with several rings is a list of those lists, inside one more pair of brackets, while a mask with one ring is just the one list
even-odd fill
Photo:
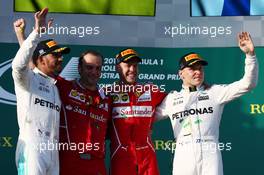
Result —
[[137, 83], [139, 62], [141, 58], [133, 49], [123, 50], [116, 56], [120, 82], [110, 89], [112, 175], [159, 174], [150, 134], [155, 108], [165, 93], [156, 85]]

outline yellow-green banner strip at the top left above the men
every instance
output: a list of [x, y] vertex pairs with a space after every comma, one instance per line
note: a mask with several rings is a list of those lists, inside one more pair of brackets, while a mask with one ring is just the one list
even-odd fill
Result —
[[14, 0], [16, 12], [36, 12], [45, 7], [55, 13], [154, 16], [155, 0]]

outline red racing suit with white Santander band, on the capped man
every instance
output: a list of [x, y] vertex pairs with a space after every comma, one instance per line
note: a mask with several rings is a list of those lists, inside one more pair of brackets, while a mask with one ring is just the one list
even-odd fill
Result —
[[159, 174], [150, 134], [155, 108], [165, 93], [158, 89], [152, 91], [154, 85], [151, 84], [136, 86], [143, 87], [143, 91], [111, 93], [111, 175]]

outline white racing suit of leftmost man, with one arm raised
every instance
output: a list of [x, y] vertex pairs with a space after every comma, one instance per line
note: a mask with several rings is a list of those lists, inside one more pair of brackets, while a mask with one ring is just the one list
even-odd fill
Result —
[[33, 31], [12, 63], [19, 125], [16, 165], [19, 175], [58, 175], [61, 102], [55, 80], [28, 67], [38, 41]]

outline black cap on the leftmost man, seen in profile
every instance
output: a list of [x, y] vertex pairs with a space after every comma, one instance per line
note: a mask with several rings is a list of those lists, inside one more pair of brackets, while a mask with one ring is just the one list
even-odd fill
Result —
[[33, 53], [33, 61], [37, 60], [38, 57], [44, 56], [50, 53], [61, 53], [67, 54], [70, 52], [70, 48], [61, 47], [57, 44], [53, 39], [48, 39], [44, 41], [40, 41]]

